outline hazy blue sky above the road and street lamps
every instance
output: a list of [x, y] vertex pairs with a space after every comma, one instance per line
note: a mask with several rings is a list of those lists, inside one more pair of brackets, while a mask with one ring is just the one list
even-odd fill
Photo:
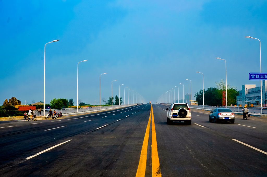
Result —
[[[53, 98], [99, 103], [127, 89], [146, 102], [179, 87], [179, 98], [225, 79], [241, 90], [249, 72], [267, 72], [267, 1], [13, 1], [0, 0], [0, 101]], [[131, 90], [130, 90], [131, 91]], [[178, 89], [175, 88], [178, 98]], [[130, 93], [130, 92], [129, 92]], [[173, 99], [174, 99], [174, 92]], [[0, 103], [2, 105], [2, 103]]]

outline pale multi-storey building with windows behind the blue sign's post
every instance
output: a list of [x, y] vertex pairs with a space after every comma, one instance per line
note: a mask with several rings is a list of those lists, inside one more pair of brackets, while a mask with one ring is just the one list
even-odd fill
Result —
[[242, 85], [242, 90], [239, 91], [239, 95], [236, 97], [238, 105], [253, 106], [261, 104], [261, 93], [262, 93], [262, 106], [266, 106], [266, 95], [267, 95], [267, 80], [262, 80], [262, 92], [261, 87], [256, 87], [255, 84]]

